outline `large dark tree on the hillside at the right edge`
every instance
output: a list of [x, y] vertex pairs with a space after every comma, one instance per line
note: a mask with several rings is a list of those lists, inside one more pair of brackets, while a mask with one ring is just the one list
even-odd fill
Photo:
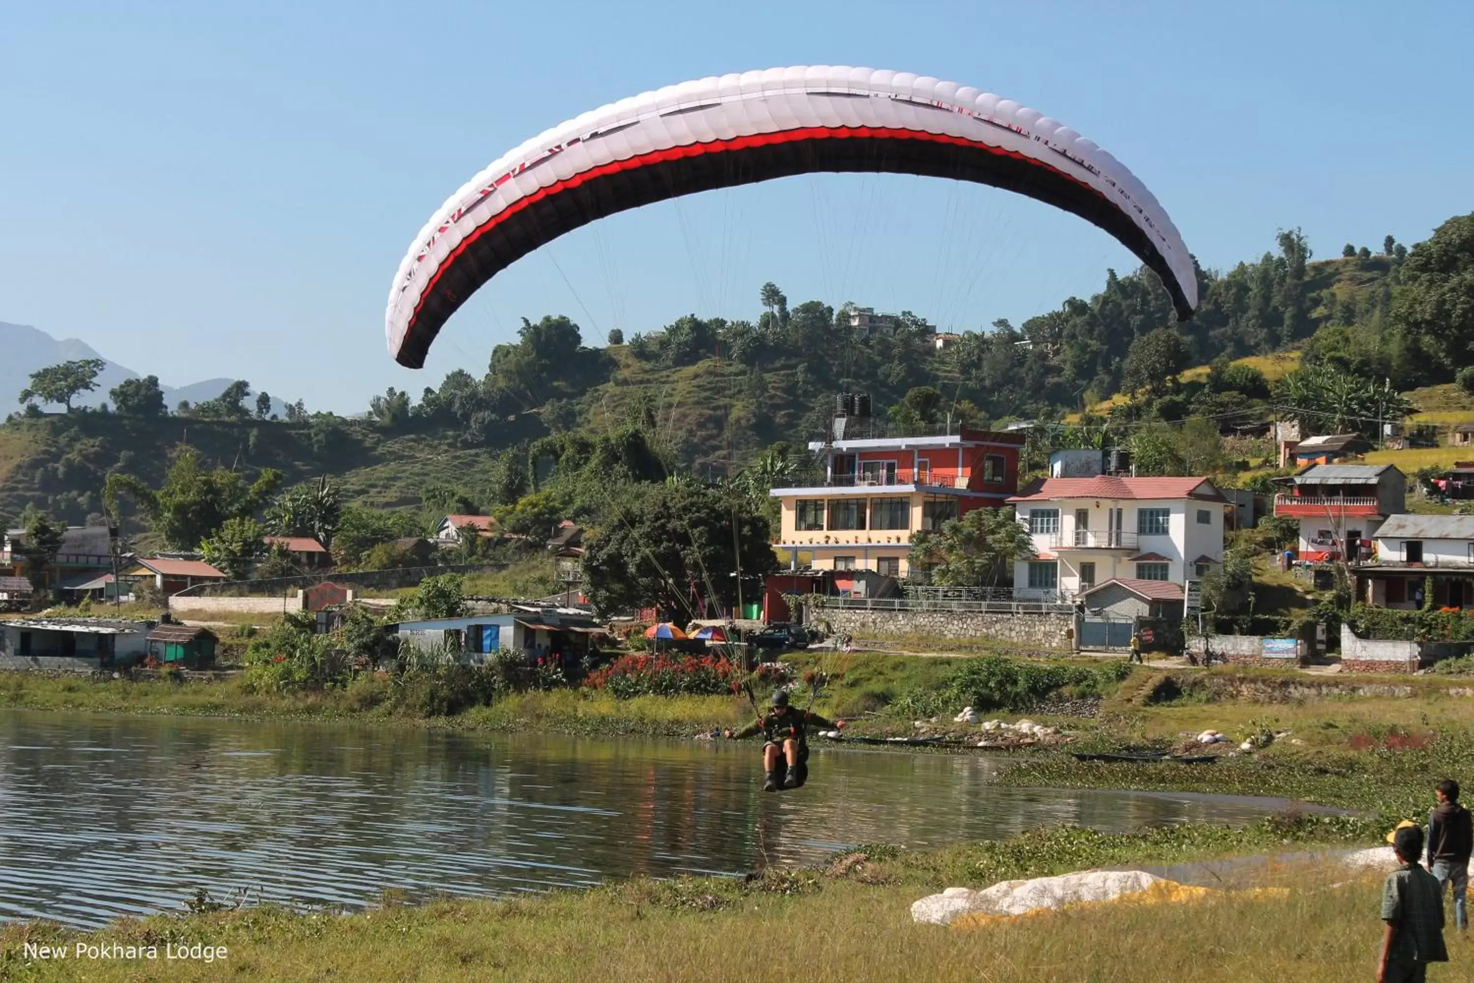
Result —
[[1450, 218], [1408, 253], [1391, 318], [1443, 379], [1474, 363], [1474, 214]]

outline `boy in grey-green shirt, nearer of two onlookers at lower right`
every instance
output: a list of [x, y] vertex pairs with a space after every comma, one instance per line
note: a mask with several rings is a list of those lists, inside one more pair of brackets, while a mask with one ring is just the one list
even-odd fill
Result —
[[1383, 884], [1381, 959], [1377, 983], [1424, 983], [1430, 962], [1447, 962], [1443, 948], [1443, 890], [1439, 880], [1418, 865], [1422, 856], [1422, 827], [1408, 822], [1387, 834], [1402, 862]]

